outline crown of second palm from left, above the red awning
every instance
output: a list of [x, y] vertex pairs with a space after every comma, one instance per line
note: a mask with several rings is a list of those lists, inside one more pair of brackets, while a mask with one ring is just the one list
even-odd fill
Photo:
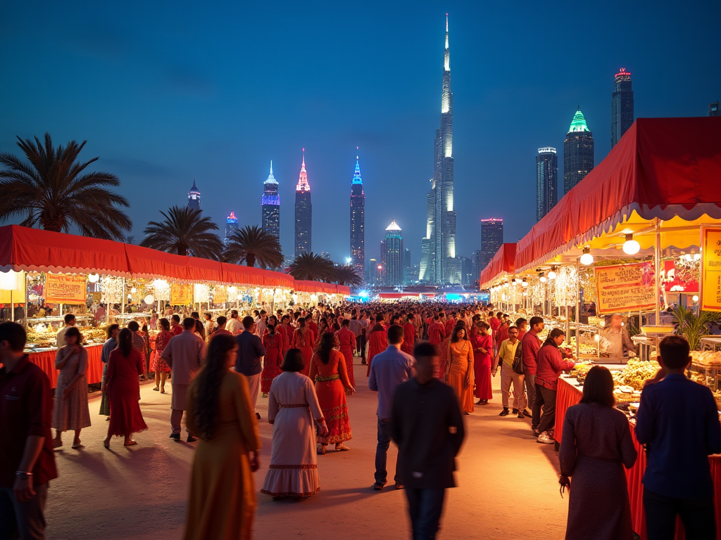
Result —
[[148, 223], [141, 246], [215, 260], [221, 256], [223, 243], [211, 232], [218, 230], [218, 225], [210, 217], [201, 217], [200, 210], [177, 206], [170, 207], [167, 213], [160, 213], [165, 221]]

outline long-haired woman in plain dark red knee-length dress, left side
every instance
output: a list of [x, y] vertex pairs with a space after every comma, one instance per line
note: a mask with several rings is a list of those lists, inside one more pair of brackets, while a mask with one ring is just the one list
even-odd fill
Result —
[[118, 347], [110, 353], [107, 361], [107, 376], [102, 389], [110, 402], [110, 424], [102, 444], [108, 450], [113, 435], [125, 437], [124, 446], [134, 446], [138, 443], [133, 441], [133, 433], [148, 428], [138, 405], [138, 376], [142, 374], [143, 359], [133, 348], [133, 333], [123, 328], [118, 334]]

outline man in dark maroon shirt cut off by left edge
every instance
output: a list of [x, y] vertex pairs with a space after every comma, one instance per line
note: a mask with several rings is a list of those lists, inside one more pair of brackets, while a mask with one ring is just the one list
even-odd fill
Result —
[[0, 324], [0, 538], [45, 538], [48, 482], [58, 477], [50, 423], [53, 395], [23, 353], [25, 330]]

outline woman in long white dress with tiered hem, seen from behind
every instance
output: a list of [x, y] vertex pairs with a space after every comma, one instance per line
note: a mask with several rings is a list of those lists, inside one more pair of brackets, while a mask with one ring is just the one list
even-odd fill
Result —
[[268, 423], [273, 424], [270, 466], [261, 493], [274, 499], [309, 497], [320, 489], [316, 429], [327, 435], [314, 384], [301, 373], [303, 355], [291, 348], [283, 373], [273, 379], [268, 395]]

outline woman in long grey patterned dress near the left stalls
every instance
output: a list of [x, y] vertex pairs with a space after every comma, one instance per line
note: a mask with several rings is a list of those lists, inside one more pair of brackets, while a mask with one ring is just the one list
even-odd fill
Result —
[[71, 326], [65, 333], [65, 346], [58, 348], [55, 356], [55, 369], [59, 369], [60, 374], [53, 408], [53, 428], [56, 429], [53, 448], [63, 446], [63, 431], [75, 432], [73, 448], [79, 448], [80, 430], [90, 427], [87, 368], [88, 352], [81, 344], [80, 330]]

